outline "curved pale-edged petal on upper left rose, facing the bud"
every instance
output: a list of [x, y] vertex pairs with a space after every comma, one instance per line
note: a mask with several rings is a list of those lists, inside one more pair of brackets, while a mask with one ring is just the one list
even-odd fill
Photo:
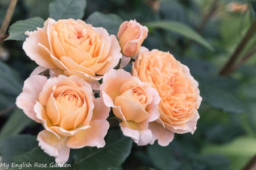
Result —
[[110, 71], [110, 69], [113, 69], [122, 58], [122, 53], [120, 52], [121, 47], [119, 46], [117, 39], [114, 35], [110, 35], [109, 37], [111, 38], [111, 46], [108, 56], [112, 57], [112, 60], [108, 61], [100, 71], [96, 72], [96, 74], [99, 75], [104, 75], [106, 72]]

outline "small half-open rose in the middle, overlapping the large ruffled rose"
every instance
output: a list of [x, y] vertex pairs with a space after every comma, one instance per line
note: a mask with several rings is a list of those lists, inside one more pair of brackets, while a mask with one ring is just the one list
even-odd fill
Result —
[[152, 140], [148, 122], [159, 118], [160, 97], [151, 84], [141, 82], [122, 69], [112, 69], [103, 77], [100, 86], [101, 97], [114, 115], [121, 119], [121, 130], [138, 145]]

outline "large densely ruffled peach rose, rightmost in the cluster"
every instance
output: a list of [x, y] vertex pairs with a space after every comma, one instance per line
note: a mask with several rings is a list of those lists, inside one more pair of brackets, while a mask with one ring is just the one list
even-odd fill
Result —
[[202, 98], [199, 95], [199, 84], [189, 73], [188, 67], [169, 52], [142, 48], [133, 64], [132, 73], [141, 81], [150, 82], [161, 98], [158, 105], [160, 119], [149, 126], [154, 140], [158, 139], [160, 145], [166, 146], [171, 139], [164, 140], [161, 136], [168, 131], [193, 134]]

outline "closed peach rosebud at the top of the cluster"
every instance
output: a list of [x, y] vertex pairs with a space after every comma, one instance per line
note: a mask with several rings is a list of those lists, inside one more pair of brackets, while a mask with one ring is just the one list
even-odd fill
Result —
[[129, 57], [137, 54], [147, 37], [147, 32], [147, 27], [137, 23], [135, 19], [123, 22], [117, 33], [122, 53]]

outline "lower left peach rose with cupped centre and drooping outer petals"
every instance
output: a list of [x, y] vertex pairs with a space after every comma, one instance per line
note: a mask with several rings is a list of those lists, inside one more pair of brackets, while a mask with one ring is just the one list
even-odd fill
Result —
[[92, 96], [92, 88], [82, 78], [32, 76], [24, 82], [16, 105], [43, 124], [39, 146], [58, 164], [68, 160], [70, 148], [105, 146], [110, 109], [102, 98]]

